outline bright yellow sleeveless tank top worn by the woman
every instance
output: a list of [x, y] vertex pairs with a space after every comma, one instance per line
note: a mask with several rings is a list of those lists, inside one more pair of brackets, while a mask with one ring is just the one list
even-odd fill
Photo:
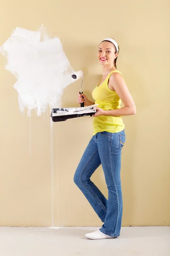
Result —
[[[115, 91], [110, 90], [108, 87], [109, 77], [114, 72], [120, 73], [122, 75], [122, 73], [118, 70], [112, 71], [110, 74], [108, 74], [105, 81], [103, 81], [99, 87], [99, 83], [97, 84], [97, 86], [94, 88], [92, 92], [95, 104], [98, 104], [97, 107], [102, 108], [103, 110], [119, 109], [120, 104], [122, 102], [117, 93]], [[121, 116], [96, 116], [93, 119], [93, 126], [93, 135], [102, 131], [117, 133], [125, 128]]]

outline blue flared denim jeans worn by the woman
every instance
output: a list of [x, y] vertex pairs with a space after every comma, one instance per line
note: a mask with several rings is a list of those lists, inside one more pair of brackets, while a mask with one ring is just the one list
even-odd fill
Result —
[[[108, 236], [120, 236], [122, 224], [122, 187], [120, 179], [121, 154], [125, 143], [125, 131], [99, 132], [94, 135], [80, 160], [74, 182], [85, 195], [104, 224], [100, 231]], [[102, 164], [108, 188], [108, 199], [90, 180]]]

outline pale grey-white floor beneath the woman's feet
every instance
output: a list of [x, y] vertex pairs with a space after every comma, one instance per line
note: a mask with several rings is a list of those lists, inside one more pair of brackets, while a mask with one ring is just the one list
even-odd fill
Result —
[[0, 227], [0, 256], [170, 256], [170, 227], [122, 227], [116, 239], [89, 240], [96, 227]]

